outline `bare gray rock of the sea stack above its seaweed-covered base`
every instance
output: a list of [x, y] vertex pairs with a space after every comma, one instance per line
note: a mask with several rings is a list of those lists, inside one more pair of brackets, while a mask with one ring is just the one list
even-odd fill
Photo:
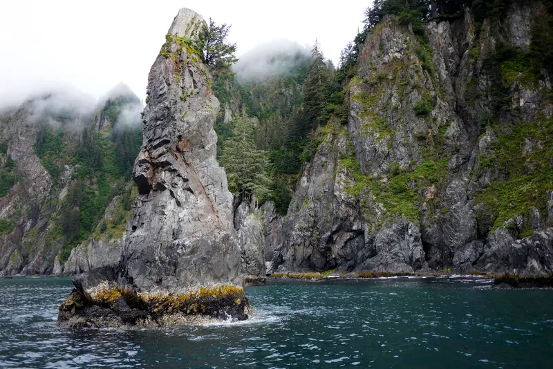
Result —
[[[190, 36], [188, 28], [202, 25], [200, 15], [180, 10], [169, 35]], [[195, 55], [176, 39], [165, 50], [178, 58], [158, 56], [149, 74], [144, 149], [133, 174], [139, 195], [122, 256], [124, 276], [150, 293], [241, 285], [232, 195], [215, 159], [219, 102]]]

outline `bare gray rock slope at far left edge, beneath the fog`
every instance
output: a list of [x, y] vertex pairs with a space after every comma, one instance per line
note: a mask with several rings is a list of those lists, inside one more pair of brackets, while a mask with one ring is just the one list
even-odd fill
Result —
[[[48, 208], [52, 178], [42, 166], [32, 146], [37, 137], [33, 119], [39, 102], [26, 102], [21, 107], [0, 112], [0, 142], [8, 143], [7, 153], [0, 153], [2, 168], [8, 157], [15, 162], [19, 181], [0, 198], [0, 220], [12, 227], [0, 234], [0, 275], [47, 274], [57, 254], [56, 245], [47, 247], [46, 237], [33, 227], [44, 229], [52, 212]], [[39, 210], [45, 209], [39, 218]]]

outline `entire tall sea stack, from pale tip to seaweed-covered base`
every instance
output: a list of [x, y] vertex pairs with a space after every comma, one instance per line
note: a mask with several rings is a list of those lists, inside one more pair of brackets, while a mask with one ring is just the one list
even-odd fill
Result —
[[181, 9], [151, 67], [138, 198], [115, 268], [82, 274], [58, 324], [155, 327], [247, 319], [232, 194], [216, 161], [219, 102], [196, 40], [205, 21]]

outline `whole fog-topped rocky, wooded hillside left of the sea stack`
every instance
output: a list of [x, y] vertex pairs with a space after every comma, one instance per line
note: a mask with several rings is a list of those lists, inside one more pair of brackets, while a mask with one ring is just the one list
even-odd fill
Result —
[[56, 262], [63, 272], [77, 245], [122, 237], [135, 196], [129, 180], [141, 110], [121, 85], [96, 106], [61, 92], [3, 111], [1, 269], [47, 274]]

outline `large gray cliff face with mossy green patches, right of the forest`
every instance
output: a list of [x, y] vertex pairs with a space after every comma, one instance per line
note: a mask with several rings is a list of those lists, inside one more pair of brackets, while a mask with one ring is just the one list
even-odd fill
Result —
[[551, 81], [525, 65], [543, 12], [371, 30], [347, 125], [325, 127], [287, 216], [265, 205], [270, 267], [553, 272]]

